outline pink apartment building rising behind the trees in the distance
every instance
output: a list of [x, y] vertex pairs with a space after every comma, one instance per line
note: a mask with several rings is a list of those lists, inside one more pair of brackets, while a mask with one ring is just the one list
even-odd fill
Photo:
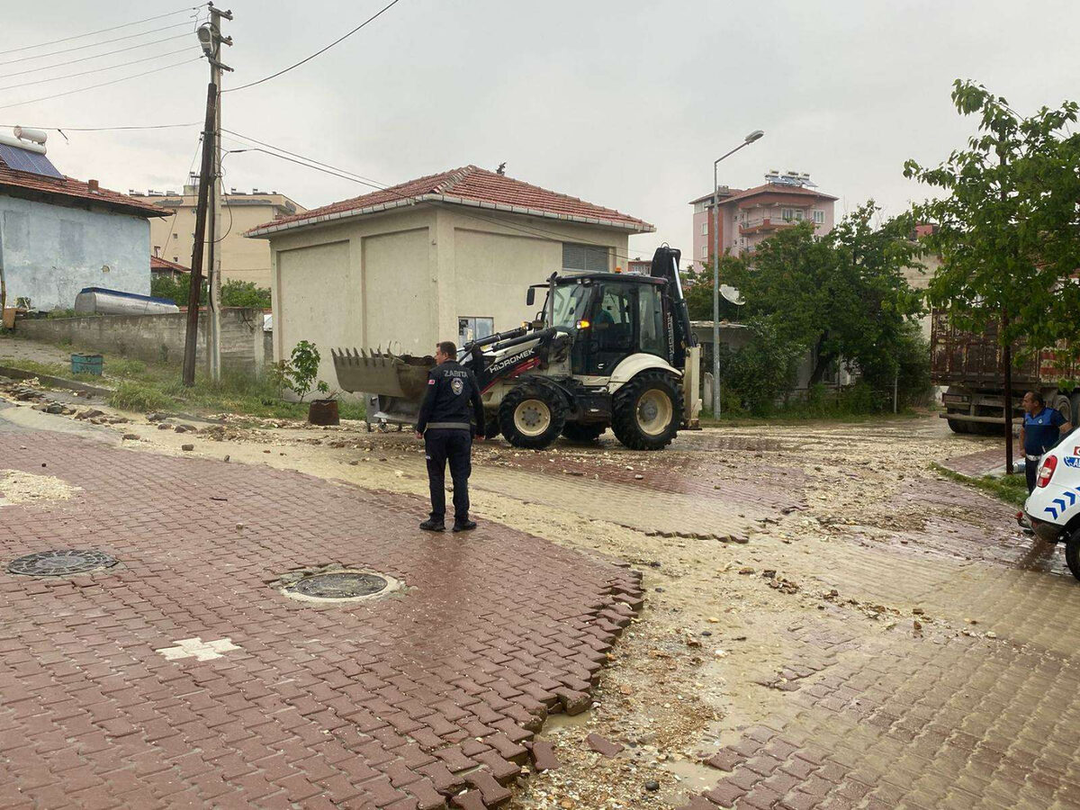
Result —
[[[814, 224], [814, 232], [833, 229], [836, 198], [815, 191], [810, 175], [770, 172], [767, 183], [750, 189], [720, 186], [720, 253], [738, 255], [753, 251], [759, 242], [781, 228], [802, 220]], [[693, 206], [693, 257], [700, 264], [713, 255], [714, 194], [691, 200]]]

